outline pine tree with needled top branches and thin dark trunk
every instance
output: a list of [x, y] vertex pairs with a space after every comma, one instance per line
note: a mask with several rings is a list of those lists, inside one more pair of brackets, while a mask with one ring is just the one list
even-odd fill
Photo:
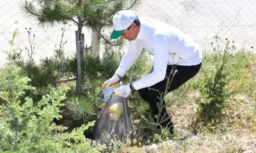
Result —
[[[33, 4], [34, 3], [34, 4]], [[90, 27], [97, 31], [105, 41], [110, 43], [95, 27], [109, 27], [112, 25], [111, 16], [116, 11], [131, 9], [140, 4], [140, 0], [134, 1], [105, 1], [105, 0], [33, 0], [32, 3], [22, 4], [22, 10], [27, 17], [35, 18], [39, 25], [55, 25], [73, 22], [77, 25], [76, 31], [76, 60], [77, 82], [76, 94], [81, 95], [81, 62], [83, 59], [84, 34], [83, 27]]]

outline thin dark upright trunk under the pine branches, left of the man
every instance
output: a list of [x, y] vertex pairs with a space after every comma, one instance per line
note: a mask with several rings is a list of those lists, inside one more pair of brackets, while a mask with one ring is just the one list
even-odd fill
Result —
[[80, 38], [79, 31], [76, 31], [76, 62], [77, 62], [77, 79], [76, 79], [76, 95], [80, 96], [81, 90], [81, 51], [80, 51]]

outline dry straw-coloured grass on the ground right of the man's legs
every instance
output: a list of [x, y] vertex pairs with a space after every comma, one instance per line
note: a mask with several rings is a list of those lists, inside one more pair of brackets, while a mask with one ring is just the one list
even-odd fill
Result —
[[[198, 93], [194, 92], [193, 96], [196, 99]], [[120, 152], [256, 152], [253, 99], [241, 95], [230, 98], [214, 133], [203, 127], [196, 135], [193, 133], [196, 108], [195, 101], [184, 101], [183, 105], [168, 108], [175, 124], [175, 137], [157, 143], [157, 150], [150, 151], [150, 145], [144, 145], [124, 147]]]

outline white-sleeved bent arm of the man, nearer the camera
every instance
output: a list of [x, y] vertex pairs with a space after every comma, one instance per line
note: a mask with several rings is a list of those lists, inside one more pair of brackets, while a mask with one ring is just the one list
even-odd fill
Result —
[[133, 82], [134, 89], [150, 87], [164, 80], [170, 51], [170, 39], [164, 35], [157, 35], [153, 40], [154, 71], [140, 80]]

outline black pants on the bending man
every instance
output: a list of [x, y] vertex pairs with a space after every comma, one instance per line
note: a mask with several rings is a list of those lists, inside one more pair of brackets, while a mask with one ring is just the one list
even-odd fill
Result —
[[[201, 65], [202, 65], [202, 63], [200, 63], [196, 66], [168, 65], [167, 69], [166, 69], [166, 77], [164, 78], [164, 80], [162, 80], [161, 82], [158, 82], [155, 85], [152, 85], [151, 87], [147, 87], [147, 88], [138, 90], [141, 98], [144, 99], [145, 101], [147, 101], [149, 103], [150, 107], [152, 108], [155, 122], [157, 121], [157, 119], [155, 117], [156, 117], [156, 115], [159, 114], [159, 109], [157, 107], [157, 103], [160, 102], [159, 98], [157, 98], [157, 97], [161, 97], [159, 95], [159, 92], [164, 93], [164, 91], [167, 91], [166, 92], [166, 94], [167, 94], [168, 92], [171, 92], [171, 91], [177, 89], [178, 87], [180, 87], [180, 85], [187, 82], [190, 78], [193, 78], [200, 70]], [[152, 71], [154, 71], [154, 70], [152, 70]], [[150, 71], [150, 73], [152, 71]], [[176, 73], [175, 73], [175, 71], [176, 71]], [[175, 74], [175, 75], [173, 75], [173, 74]], [[170, 79], [169, 79], [170, 86], [166, 90], [166, 84], [168, 82], [168, 77], [170, 77]], [[151, 89], [149, 89], [149, 88], [151, 88]], [[154, 91], [152, 89], [156, 89], [159, 92]], [[166, 96], [166, 94], [164, 96]], [[163, 119], [164, 122], [162, 122], [162, 123], [160, 122], [159, 124], [161, 126], [163, 126], [163, 128], [166, 128], [166, 126], [167, 126], [167, 128], [170, 128], [170, 131], [172, 133], [173, 132], [173, 123], [172, 123], [172, 120], [170, 119], [168, 113], [166, 112], [166, 107], [164, 106], [165, 105], [164, 97], [162, 97], [162, 99], [163, 99], [162, 110], [161, 110], [161, 117], [159, 117], [159, 121], [161, 119]]]

